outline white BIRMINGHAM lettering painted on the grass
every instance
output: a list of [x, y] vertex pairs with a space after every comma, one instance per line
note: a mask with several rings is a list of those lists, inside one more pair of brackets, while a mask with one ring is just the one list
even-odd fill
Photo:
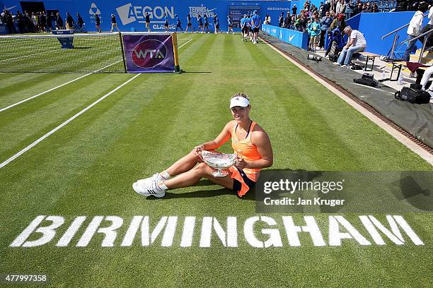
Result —
[[356, 223], [342, 215], [327, 218], [324, 225], [323, 218], [309, 215], [296, 220], [296, 223], [292, 216], [253, 216], [243, 221], [238, 217], [223, 220], [217, 217], [133, 216], [125, 221], [118, 216], [79, 216], [67, 221], [59, 215], [39, 215], [11, 242], [10, 247], [46, 244], [86, 247], [92, 242], [102, 247], [206, 248], [222, 245], [268, 248], [311, 244], [342, 246], [342, 240], [362, 246], [425, 245], [400, 215], [386, 215], [382, 222], [372, 215], [359, 215], [354, 218]]

